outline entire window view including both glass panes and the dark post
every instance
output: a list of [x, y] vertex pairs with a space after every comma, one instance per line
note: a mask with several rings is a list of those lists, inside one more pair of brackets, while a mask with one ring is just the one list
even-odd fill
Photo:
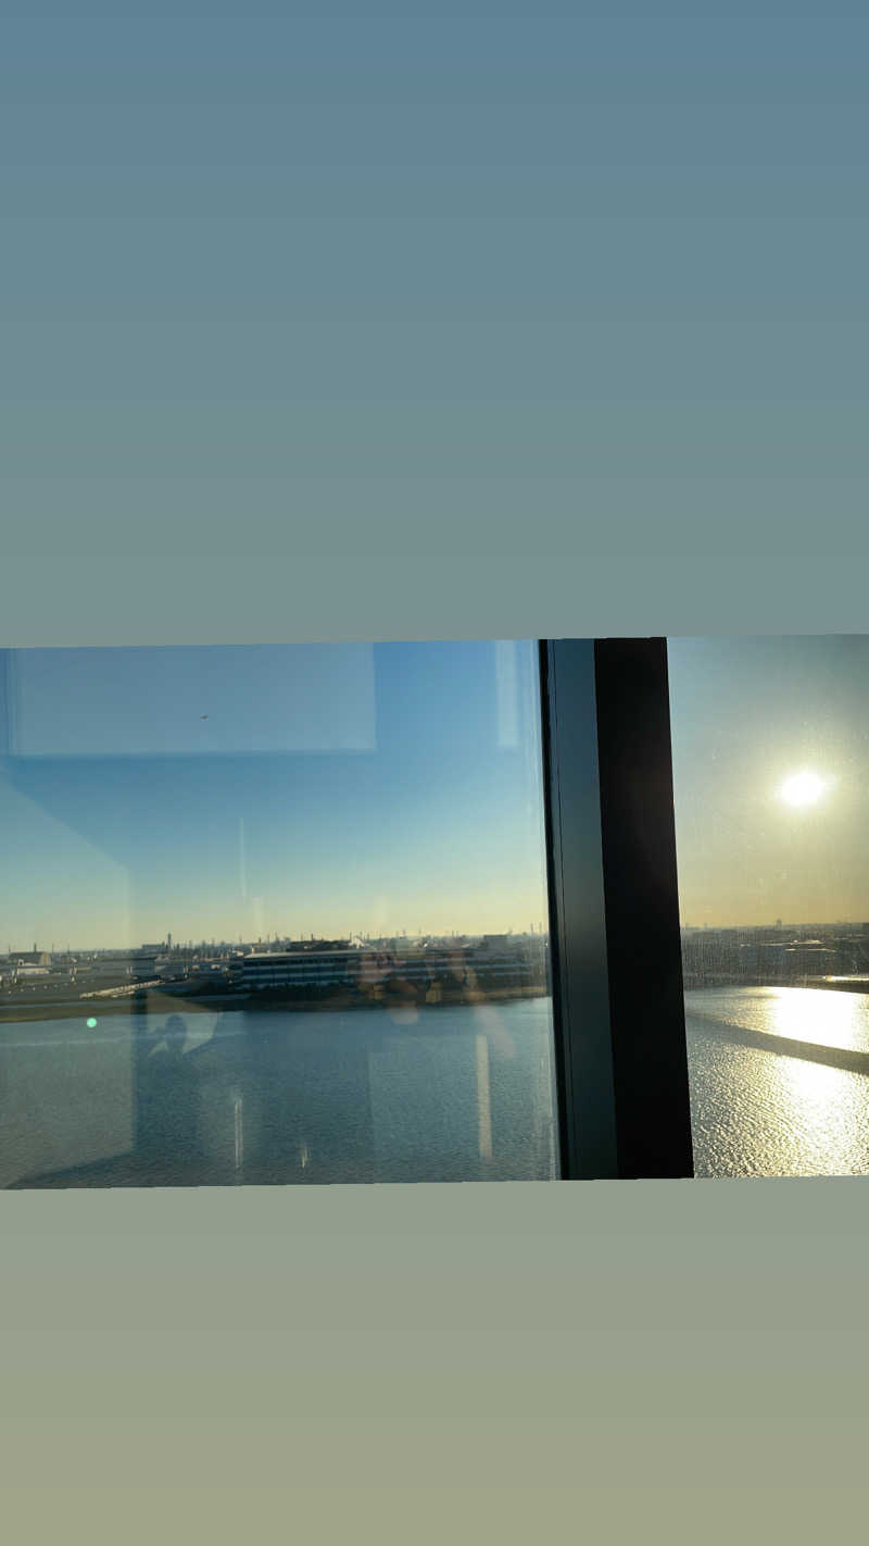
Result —
[[8, 651], [0, 1184], [869, 1173], [867, 677]]

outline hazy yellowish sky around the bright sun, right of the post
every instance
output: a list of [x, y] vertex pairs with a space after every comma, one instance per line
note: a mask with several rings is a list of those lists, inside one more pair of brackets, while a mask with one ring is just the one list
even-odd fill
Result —
[[[668, 640], [682, 923], [869, 921], [869, 637]], [[792, 805], [810, 771], [826, 787]]]

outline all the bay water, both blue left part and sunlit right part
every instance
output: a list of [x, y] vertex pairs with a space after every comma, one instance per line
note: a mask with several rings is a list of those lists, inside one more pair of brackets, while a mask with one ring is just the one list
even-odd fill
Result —
[[[685, 1011], [699, 1177], [869, 1172], [869, 994], [705, 989]], [[556, 1173], [548, 999], [0, 1027], [5, 1187]]]

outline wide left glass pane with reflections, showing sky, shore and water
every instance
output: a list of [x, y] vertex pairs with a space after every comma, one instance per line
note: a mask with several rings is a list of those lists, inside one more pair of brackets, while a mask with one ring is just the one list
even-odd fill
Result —
[[0, 656], [0, 1184], [557, 1173], [529, 640]]

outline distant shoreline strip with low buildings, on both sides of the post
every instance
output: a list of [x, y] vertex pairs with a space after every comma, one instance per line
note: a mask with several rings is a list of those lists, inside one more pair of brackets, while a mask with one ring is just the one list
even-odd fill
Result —
[[[858, 985], [869, 982], [869, 923], [688, 928], [681, 931], [685, 988], [727, 985]], [[409, 937], [279, 938], [140, 945], [117, 951], [0, 954], [0, 1000], [68, 1003], [77, 999], [165, 991], [190, 999], [327, 1000], [414, 994], [548, 993], [549, 937], [526, 934], [418, 934]]]

